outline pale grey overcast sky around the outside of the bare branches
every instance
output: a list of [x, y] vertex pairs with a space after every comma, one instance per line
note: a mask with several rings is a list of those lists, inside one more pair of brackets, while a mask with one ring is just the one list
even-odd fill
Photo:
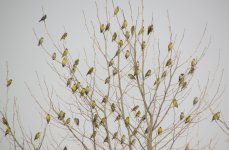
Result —
[[[114, 1], [124, 10], [128, 9], [126, 0]], [[124, 5], [122, 5], [123, 1], [125, 1]], [[103, 3], [104, 1], [98, 0], [97, 2]], [[132, 0], [132, 2], [134, 7], [139, 4], [138, 0]], [[28, 124], [27, 127], [31, 130], [33, 129], [31, 126], [39, 128], [35, 124], [34, 118], [39, 117], [37, 113], [40, 110], [34, 104], [24, 82], [32, 87], [33, 93], [37, 93], [37, 96], [41, 97], [35, 72], [37, 71], [51, 85], [55, 85], [58, 79], [47, 65], [46, 61], [50, 59], [37, 46], [37, 40], [33, 33], [34, 28], [38, 36], [44, 35], [43, 25], [38, 23], [42, 16], [42, 6], [48, 15], [50, 33], [58, 40], [66, 30], [69, 33], [69, 47], [72, 50], [79, 51], [79, 53], [76, 53], [77, 57], [83, 55], [83, 52], [80, 52], [83, 48], [91, 48], [90, 39], [84, 26], [82, 10], [85, 10], [87, 19], [96, 21], [93, 0], [0, 0], [0, 107], [2, 108], [2, 104], [5, 101], [3, 98], [6, 97], [5, 64], [8, 61], [9, 77], [14, 80], [10, 89], [10, 97], [11, 100], [14, 96], [17, 97], [22, 118], [25, 120], [24, 124]], [[229, 97], [227, 88], [229, 85], [229, 79], [227, 78], [229, 76], [229, 68], [227, 66], [229, 64], [228, 6], [227, 0], [145, 0], [146, 11], [144, 14], [146, 23], [148, 23], [153, 11], [156, 27], [160, 27], [158, 28], [160, 30], [158, 34], [160, 34], [160, 37], [165, 35], [165, 39], [161, 38], [160, 41], [165, 44], [168, 42], [167, 9], [170, 13], [173, 32], [181, 36], [184, 29], [186, 31], [184, 45], [195, 47], [202, 35], [205, 24], [208, 23], [206, 39], [211, 36], [212, 44], [198, 67], [200, 68], [200, 73], [197, 78], [205, 79], [209, 71], [214, 71], [214, 67], [217, 64], [218, 51], [221, 49], [220, 69], [224, 68], [223, 86], [225, 86], [225, 93], [222, 97], [222, 104], [215, 111], [221, 111], [225, 119], [229, 121], [229, 102], [227, 100]], [[111, 11], [113, 12], [113, 10]], [[190, 47], [187, 50], [185, 46], [183, 47], [184, 54], [191, 54]], [[213, 127], [206, 126], [201, 137], [216, 137], [218, 140], [216, 149], [228, 149], [229, 144], [226, 140], [229, 140], [229, 138], [216, 125], [210, 125]], [[0, 149], [9, 149], [9, 145], [2, 135], [0, 136]]]

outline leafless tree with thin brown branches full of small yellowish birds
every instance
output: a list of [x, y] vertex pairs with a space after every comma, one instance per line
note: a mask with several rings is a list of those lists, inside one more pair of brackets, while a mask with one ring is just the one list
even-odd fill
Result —
[[[185, 34], [178, 37], [173, 33], [168, 12], [170, 38], [167, 45], [160, 45], [153, 15], [149, 20], [144, 18], [143, 0], [136, 16], [130, 1], [129, 10], [123, 10], [105, 0], [105, 17], [100, 16], [97, 2], [95, 7], [97, 22], [87, 20], [83, 12], [92, 44], [91, 50], [84, 49], [84, 58], [76, 58], [67, 48], [69, 33], [54, 40], [47, 25], [51, 18], [44, 12], [39, 22], [44, 25], [45, 38], [34, 30], [38, 46], [50, 57], [48, 65], [68, 95], [68, 99], [62, 98], [37, 74], [44, 105], [26, 84], [41, 109], [42, 130], [31, 133], [23, 128], [16, 101], [10, 121], [8, 89], [13, 80], [7, 73], [1, 130], [15, 149], [66, 150], [66, 141], [79, 149], [189, 149], [189, 130], [202, 123], [209, 112], [213, 118], [208, 119], [221, 123], [228, 134], [220, 112], [211, 109], [222, 96], [223, 73], [217, 82], [207, 77], [204, 86], [193, 80], [211, 44], [211, 40], [207, 45], [202, 43], [207, 26], [193, 53], [184, 59], [181, 45]], [[47, 43], [55, 51], [50, 51]], [[212, 89], [215, 91], [209, 94]]]

